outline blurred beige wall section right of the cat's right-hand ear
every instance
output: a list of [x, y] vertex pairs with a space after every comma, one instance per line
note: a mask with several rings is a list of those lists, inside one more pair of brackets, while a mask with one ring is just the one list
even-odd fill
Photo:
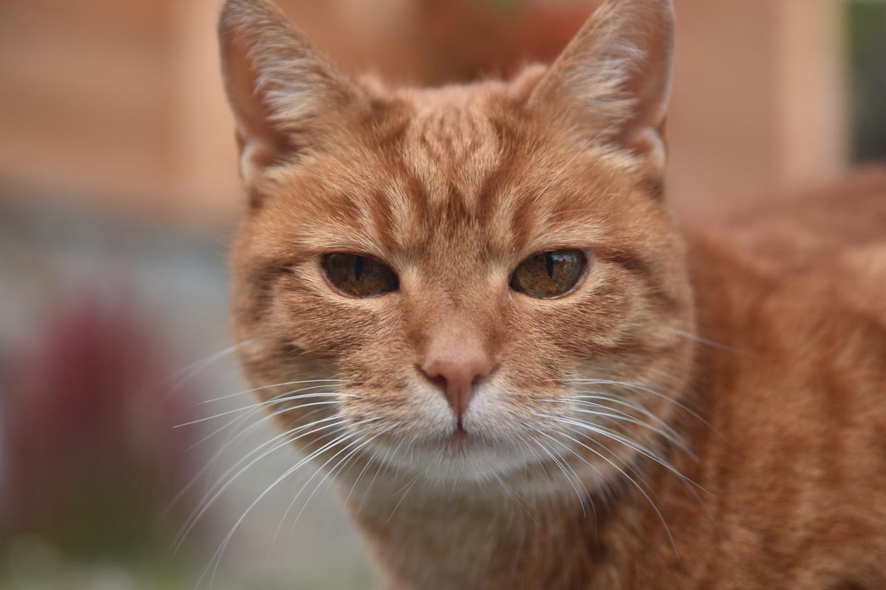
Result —
[[845, 167], [834, 0], [676, 0], [670, 190], [707, 212]]

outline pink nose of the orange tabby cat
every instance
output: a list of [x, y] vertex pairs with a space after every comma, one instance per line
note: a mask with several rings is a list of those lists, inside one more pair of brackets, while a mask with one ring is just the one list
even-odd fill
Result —
[[444, 393], [461, 429], [478, 382], [492, 373], [494, 366], [482, 348], [467, 345], [434, 354], [419, 369]]

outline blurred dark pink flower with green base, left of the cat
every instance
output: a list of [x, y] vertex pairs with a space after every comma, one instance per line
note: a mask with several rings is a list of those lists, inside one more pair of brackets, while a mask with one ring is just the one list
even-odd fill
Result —
[[166, 545], [196, 434], [174, 429], [194, 398], [164, 384], [169, 348], [136, 306], [97, 297], [53, 314], [36, 342], [2, 400], [4, 528], [74, 554]]

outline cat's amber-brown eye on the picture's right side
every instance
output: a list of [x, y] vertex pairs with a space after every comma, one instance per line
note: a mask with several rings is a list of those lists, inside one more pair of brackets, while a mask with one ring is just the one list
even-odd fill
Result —
[[579, 283], [586, 264], [580, 250], [540, 252], [517, 267], [510, 288], [536, 299], [562, 297]]

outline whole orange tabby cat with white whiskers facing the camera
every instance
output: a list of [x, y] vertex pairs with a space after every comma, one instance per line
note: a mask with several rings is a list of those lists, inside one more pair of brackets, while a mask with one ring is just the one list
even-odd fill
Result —
[[386, 587], [886, 587], [886, 173], [682, 229], [673, 27], [387, 89], [224, 5], [239, 354]]

